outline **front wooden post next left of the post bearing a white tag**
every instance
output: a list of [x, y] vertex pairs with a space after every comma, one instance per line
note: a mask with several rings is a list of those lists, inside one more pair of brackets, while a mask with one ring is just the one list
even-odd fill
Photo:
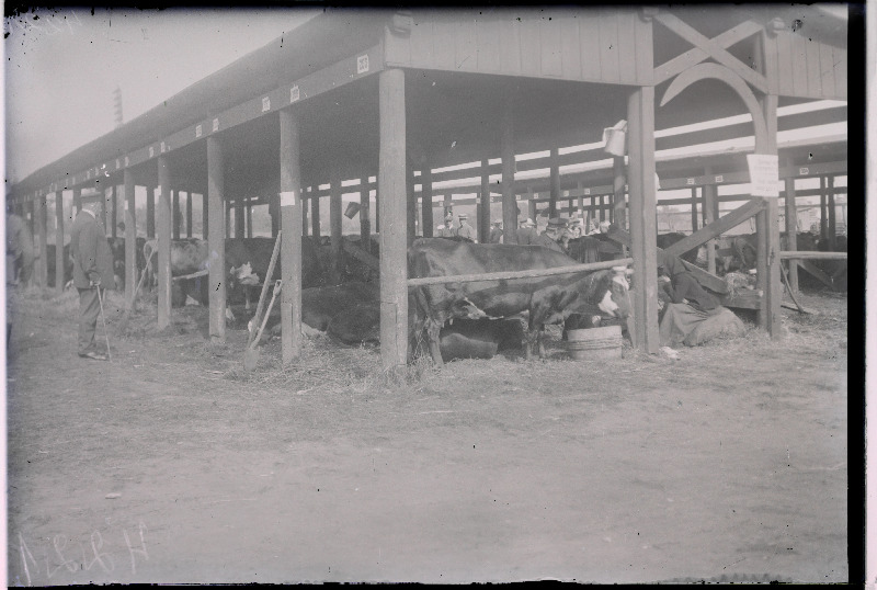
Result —
[[226, 341], [226, 226], [225, 154], [217, 136], [207, 137], [207, 236], [210, 251], [209, 290], [212, 342]]

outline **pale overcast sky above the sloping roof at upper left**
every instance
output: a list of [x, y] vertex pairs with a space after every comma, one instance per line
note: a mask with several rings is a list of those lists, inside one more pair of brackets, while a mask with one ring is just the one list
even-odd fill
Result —
[[7, 179], [20, 181], [317, 11], [39, 9], [4, 20]]

